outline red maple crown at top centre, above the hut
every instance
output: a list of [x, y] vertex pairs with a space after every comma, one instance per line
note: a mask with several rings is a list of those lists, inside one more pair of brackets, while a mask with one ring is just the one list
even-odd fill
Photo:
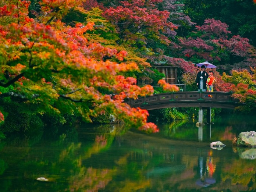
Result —
[[[104, 16], [110, 22], [118, 27], [119, 43], [124, 39], [137, 36], [139, 39], [146, 35], [154, 33], [163, 43], [169, 43], [170, 40], [164, 34], [171, 34], [178, 27], [168, 21], [170, 13], [167, 10], [160, 11], [156, 4], [162, 0], [132, 0], [120, 1], [117, 7], [109, 7], [104, 11]], [[176, 34], [176, 33], [175, 33]]]

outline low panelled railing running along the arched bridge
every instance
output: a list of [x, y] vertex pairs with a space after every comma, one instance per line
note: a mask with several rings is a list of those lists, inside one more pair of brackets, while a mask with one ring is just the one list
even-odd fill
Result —
[[136, 100], [128, 100], [127, 103], [131, 107], [141, 106], [143, 104], [155, 104], [166, 102], [186, 102], [186, 101], [217, 101], [217, 102], [238, 102], [233, 97], [232, 93], [227, 92], [170, 92], [160, 93], [153, 96], [139, 97]]

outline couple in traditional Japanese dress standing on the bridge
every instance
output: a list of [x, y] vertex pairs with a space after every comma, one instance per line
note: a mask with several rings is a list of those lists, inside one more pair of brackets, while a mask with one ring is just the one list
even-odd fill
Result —
[[205, 72], [205, 65], [201, 66], [201, 70], [196, 75], [196, 85], [198, 85], [198, 91], [213, 92], [213, 82], [216, 79], [213, 77], [213, 71], [209, 71], [209, 75]]

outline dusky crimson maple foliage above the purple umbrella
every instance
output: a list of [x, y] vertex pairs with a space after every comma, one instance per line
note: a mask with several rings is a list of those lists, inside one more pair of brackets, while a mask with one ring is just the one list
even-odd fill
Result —
[[240, 57], [240, 60], [248, 65], [255, 65], [254, 61], [248, 60], [248, 58], [253, 58], [256, 53], [252, 45], [249, 44], [249, 39], [239, 35], [229, 38], [231, 32], [228, 31], [227, 24], [215, 19], [205, 19], [202, 26], [195, 27], [197, 31], [192, 32], [189, 38], [179, 38], [180, 50], [184, 57], [189, 60], [198, 57], [202, 61], [213, 63], [215, 60], [219, 62], [229, 55], [231, 58]]

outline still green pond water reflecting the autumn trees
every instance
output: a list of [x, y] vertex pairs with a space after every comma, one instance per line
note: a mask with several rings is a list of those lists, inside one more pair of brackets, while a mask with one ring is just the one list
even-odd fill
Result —
[[[0, 142], [1, 192], [256, 191], [256, 149], [232, 146], [256, 131], [256, 116], [214, 124], [159, 124], [157, 134], [125, 125], [50, 127]], [[221, 141], [222, 150], [209, 144]], [[37, 181], [45, 177], [49, 181]]]

